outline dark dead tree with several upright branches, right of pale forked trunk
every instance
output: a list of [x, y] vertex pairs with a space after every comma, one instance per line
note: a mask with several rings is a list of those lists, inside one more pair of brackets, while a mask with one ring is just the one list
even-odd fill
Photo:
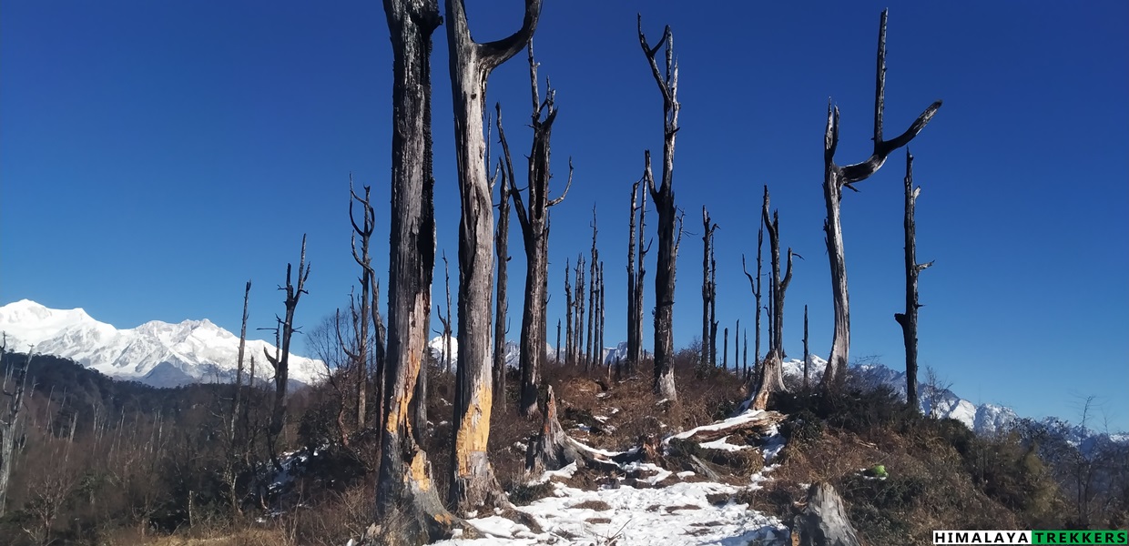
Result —
[[[522, 345], [519, 364], [522, 373], [522, 391], [518, 397], [518, 411], [522, 415], [533, 416], [537, 411], [537, 381], [545, 360], [545, 316], [549, 301], [549, 209], [560, 204], [572, 186], [572, 161], [569, 161], [568, 183], [560, 196], [549, 199], [550, 174], [550, 140], [553, 121], [557, 120], [557, 106], [553, 99], [557, 93], [545, 85], [545, 97], [541, 99], [537, 87], [537, 63], [533, 59], [533, 43], [528, 46], [530, 90], [533, 99], [533, 144], [530, 151], [527, 200], [519, 192], [513, 195], [517, 220], [522, 227], [522, 244], [525, 248], [525, 301], [522, 309]], [[514, 164], [510, 160], [509, 144], [501, 125], [501, 107], [498, 111], [498, 135], [501, 139], [506, 169], [510, 179], [514, 178]], [[566, 266], [566, 271], [568, 267]], [[564, 275], [568, 290], [568, 274]], [[569, 292], [571, 293], [571, 292]], [[569, 297], [571, 302], [571, 297]], [[558, 324], [558, 326], [560, 326]], [[571, 324], [569, 324], [571, 327]], [[558, 328], [560, 329], [560, 328]], [[560, 352], [560, 333], [558, 332], [558, 353]], [[571, 337], [569, 337], [571, 340]], [[568, 354], [568, 353], [566, 353]], [[568, 358], [568, 356], [566, 356]], [[558, 360], [559, 356], [558, 356]]]

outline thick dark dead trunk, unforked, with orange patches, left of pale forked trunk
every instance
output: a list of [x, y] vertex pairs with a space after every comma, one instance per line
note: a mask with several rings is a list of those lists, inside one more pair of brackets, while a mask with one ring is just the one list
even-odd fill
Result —
[[436, 0], [385, 0], [392, 38], [392, 206], [388, 246], [388, 350], [376, 521], [390, 526], [371, 543], [425, 544], [452, 531], [452, 517], [415, 441], [409, 407], [427, 351], [435, 268], [435, 177], [431, 174], [431, 35]]

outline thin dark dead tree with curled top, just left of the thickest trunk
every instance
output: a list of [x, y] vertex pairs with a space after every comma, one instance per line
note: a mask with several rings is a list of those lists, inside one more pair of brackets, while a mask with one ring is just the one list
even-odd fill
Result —
[[[349, 221], [352, 223], [353, 234], [350, 237], [349, 245], [352, 247], [353, 259], [357, 265], [361, 267], [360, 281], [360, 317], [353, 324], [358, 326], [357, 336], [357, 354], [350, 355], [357, 362], [357, 430], [365, 428], [365, 417], [367, 415], [365, 404], [368, 398], [368, 353], [369, 353], [369, 338], [368, 338], [368, 323], [369, 316], [371, 315], [371, 301], [369, 297], [371, 294], [375, 274], [373, 271], [373, 258], [368, 254], [368, 244], [373, 238], [373, 230], [376, 228], [376, 212], [373, 209], [373, 204], [369, 201], [370, 186], [365, 186], [365, 197], [361, 199], [353, 191], [352, 175], [349, 175]], [[361, 205], [361, 222], [357, 223], [357, 219], [353, 217], [353, 203], [360, 203]], [[357, 236], [360, 236], [360, 253], [357, 252]]]

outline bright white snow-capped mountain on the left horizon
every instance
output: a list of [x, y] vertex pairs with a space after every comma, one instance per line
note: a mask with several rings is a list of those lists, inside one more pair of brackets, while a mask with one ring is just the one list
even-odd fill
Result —
[[[82, 309], [49, 309], [30, 300], [0, 307], [0, 332], [8, 349], [71, 359], [117, 379], [155, 387], [198, 381], [229, 381], [236, 369], [239, 337], [208, 319], [180, 324], [152, 320], [135, 328], [117, 329]], [[247, 340], [245, 361], [254, 356], [257, 377], [273, 373], [263, 351], [274, 345]], [[318, 360], [290, 355], [290, 379], [312, 384], [325, 367]]]

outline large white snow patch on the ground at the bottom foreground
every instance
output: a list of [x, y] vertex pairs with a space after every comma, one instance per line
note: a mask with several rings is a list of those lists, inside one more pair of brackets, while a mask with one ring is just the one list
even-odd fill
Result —
[[[554, 483], [554, 496], [517, 509], [528, 513], [542, 532], [499, 516], [467, 520], [484, 538], [454, 538], [443, 546], [516, 546], [558, 544], [604, 545], [746, 545], [784, 544], [787, 527], [747, 504], [712, 504], [711, 494], [736, 487], [707, 482], [680, 482], [658, 488], [602, 487], [584, 491]], [[758, 543], [760, 541], [760, 543]]]

